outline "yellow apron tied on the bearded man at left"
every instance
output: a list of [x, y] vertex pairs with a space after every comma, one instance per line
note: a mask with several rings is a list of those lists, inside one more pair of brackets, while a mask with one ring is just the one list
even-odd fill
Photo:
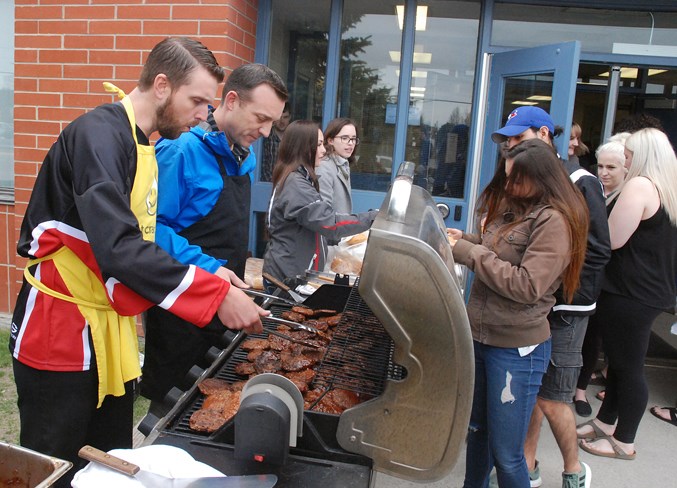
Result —
[[[108, 84], [109, 87], [115, 88]], [[107, 90], [109, 87], [106, 87]], [[124, 93], [119, 90], [124, 97]], [[131, 193], [131, 209], [139, 221], [143, 238], [155, 240], [157, 214], [157, 161], [153, 146], [139, 145], [136, 138], [136, 119], [129, 98], [122, 100], [132, 128], [137, 151], [137, 168]], [[42, 261], [51, 260], [56, 266], [72, 296], [64, 295], [39, 282], [28, 271]], [[124, 384], [141, 375], [139, 365], [136, 317], [124, 317], [110, 306], [108, 295], [99, 277], [67, 247], [39, 259], [29, 260], [24, 269], [26, 280], [41, 292], [77, 305], [87, 320], [94, 343], [99, 379], [101, 406], [106, 395], [122, 396]]]

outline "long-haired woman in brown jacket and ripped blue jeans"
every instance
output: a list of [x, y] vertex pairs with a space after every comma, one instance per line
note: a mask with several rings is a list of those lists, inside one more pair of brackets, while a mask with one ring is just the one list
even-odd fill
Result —
[[465, 487], [529, 486], [524, 439], [550, 359], [548, 312], [571, 300], [585, 257], [585, 201], [543, 141], [511, 148], [480, 196], [481, 233], [456, 229], [454, 259], [475, 273], [468, 317], [475, 391]]

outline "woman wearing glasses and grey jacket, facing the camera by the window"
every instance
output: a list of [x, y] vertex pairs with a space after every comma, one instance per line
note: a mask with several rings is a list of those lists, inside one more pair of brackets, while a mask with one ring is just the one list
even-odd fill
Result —
[[353, 211], [350, 195], [350, 164], [355, 162], [355, 149], [360, 143], [355, 122], [338, 118], [329, 122], [325, 134], [327, 154], [317, 168], [322, 200], [329, 202], [336, 213]]

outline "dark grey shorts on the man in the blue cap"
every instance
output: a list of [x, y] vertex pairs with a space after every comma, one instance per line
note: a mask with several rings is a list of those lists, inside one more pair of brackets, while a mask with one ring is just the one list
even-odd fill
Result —
[[548, 370], [543, 375], [539, 398], [564, 403], [573, 401], [578, 374], [583, 365], [581, 348], [588, 318], [588, 315], [561, 314], [549, 317], [552, 355]]

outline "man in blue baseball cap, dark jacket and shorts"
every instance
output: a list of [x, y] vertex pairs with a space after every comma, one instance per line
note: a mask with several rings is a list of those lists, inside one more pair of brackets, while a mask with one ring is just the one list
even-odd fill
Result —
[[[524, 106], [508, 115], [504, 127], [491, 135], [491, 139], [511, 148], [522, 141], [538, 138], [551, 146], [553, 139], [562, 133], [555, 127], [550, 115], [535, 106]], [[595, 313], [600, 293], [604, 266], [611, 257], [611, 243], [607, 224], [604, 195], [599, 180], [577, 163], [563, 161], [571, 181], [581, 191], [590, 212], [590, 227], [585, 263], [580, 286], [572, 303], [566, 303], [561, 289], [548, 320], [552, 334], [552, 357], [538, 393], [536, 406], [527, 431], [524, 455], [529, 468], [532, 487], [542, 485], [536, 448], [543, 416], [548, 419], [555, 440], [564, 459], [563, 488], [588, 488], [592, 478], [590, 467], [578, 460], [576, 419], [568, 405], [572, 402], [578, 373], [583, 364], [581, 348], [588, 325], [588, 317]]]

